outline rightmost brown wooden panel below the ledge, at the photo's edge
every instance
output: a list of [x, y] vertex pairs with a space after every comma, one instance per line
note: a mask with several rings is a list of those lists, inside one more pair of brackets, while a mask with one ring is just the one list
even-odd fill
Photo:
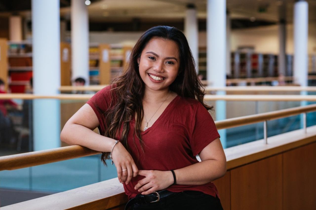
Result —
[[316, 143], [283, 154], [283, 209], [316, 209]]

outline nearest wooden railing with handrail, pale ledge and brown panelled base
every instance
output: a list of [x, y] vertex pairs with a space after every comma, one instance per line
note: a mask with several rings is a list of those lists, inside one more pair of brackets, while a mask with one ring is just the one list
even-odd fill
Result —
[[[316, 111], [316, 105], [216, 121], [216, 126], [218, 129], [225, 129], [312, 111]], [[315, 168], [312, 167], [316, 160], [316, 155], [313, 153], [316, 149], [316, 126], [307, 128], [307, 133], [296, 130], [269, 137], [269, 144], [264, 143], [264, 140], [258, 140], [224, 149], [227, 159], [227, 173], [224, 177], [214, 181], [220, 192], [223, 208], [228, 210], [258, 209], [258, 205], [268, 205], [277, 206], [278, 209], [282, 209], [283, 206], [283, 209], [298, 209], [298, 207], [311, 209], [315, 206], [316, 187], [310, 181], [314, 179], [316, 173]], [[3, 156], [0, 157], [0, 171], [98, 153], [74, 145]], [[306, 154], [309, 155], [306, 156]], [[304, 164], [301, 164], [302, 162]], [[282, 168], [280, 169], [280, 167]], [[300, 167], [301, 171], [298, 171], [297, 167]], [[306, 183], [299, 182], [300, 179], [306, 180]], [[267, 183], [268, 181], [269, 183]], [[301, 190], [301, 192], [297, 194], [295, 190]], [[289, 192], [293, 192], [293, 196]], [[252, 202], [249, 203], [249, 201]], [[124, 209], [126, 202], [127, 196], [124, 193], [123, 185], [119, 183], [117, 178], [113, 178], [1, 207], [1, 209], [46, 209], [55, 207], [58, 209], [119, 210]]]

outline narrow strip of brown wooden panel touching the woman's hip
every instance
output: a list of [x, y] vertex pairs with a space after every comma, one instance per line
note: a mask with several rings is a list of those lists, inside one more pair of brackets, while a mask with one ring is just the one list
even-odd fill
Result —
[[223, 209], [230, 210], [230, 171], [227, 171], [225, 176], [215, 180], [213, 183], [218, 190]]

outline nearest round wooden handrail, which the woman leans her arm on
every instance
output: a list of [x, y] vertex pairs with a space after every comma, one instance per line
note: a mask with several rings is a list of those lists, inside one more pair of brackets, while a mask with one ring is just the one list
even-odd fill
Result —
[[[217, 129], [225, 129], [312, 111], [316, 111], [316, 104], [305, 107], [288, 108], [263, 114], [254, 114], [245, 117], [231, 118], [227, 120], [216, 121], [215, 124]], [[94, 151], [79, 145], [73, 145], [56, 149], [8, 155], [0, 157], [0, 171], [37, 166], [99, 153], [100, 152], [98, 151]]]

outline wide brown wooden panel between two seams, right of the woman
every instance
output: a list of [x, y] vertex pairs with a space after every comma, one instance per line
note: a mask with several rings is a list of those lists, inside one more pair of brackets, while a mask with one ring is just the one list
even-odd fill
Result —
[[282, 154], [231, 170], [231, 210], [282, 209]]

